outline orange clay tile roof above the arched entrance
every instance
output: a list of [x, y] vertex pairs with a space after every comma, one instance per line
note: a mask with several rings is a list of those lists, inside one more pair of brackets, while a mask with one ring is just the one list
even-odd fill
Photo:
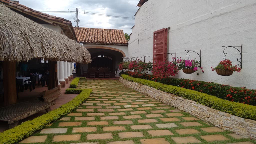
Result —
[[120, 29], [74, 27], [74, 31], [79, 43], [128, 45]]

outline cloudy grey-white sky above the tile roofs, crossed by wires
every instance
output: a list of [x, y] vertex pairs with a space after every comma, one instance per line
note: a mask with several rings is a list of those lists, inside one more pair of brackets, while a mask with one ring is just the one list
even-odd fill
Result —
[[[124, 17], [134, 17], [139, 0], [19, 0], [19, 3], [38, 11], [76, 11], [79, 8], [81, 12], [97, 12], [100, 14], [117, 15]], [[76, 26], [74, 18], [75, 13], [49, 13], [58, 17], [63, 17], [72, 22]], [[109, 28], [109, 29], [123, 29], [124, 33], [130, 34], [134, 20], [121, 19], [89, 14], [79, 14], [81, 21], [79, 27], [90, 28]]]

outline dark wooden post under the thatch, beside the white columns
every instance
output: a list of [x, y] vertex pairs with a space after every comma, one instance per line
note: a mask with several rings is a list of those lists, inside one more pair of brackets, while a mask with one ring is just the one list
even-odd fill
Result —
[[48, 90], [58, 86], [57, 61], [49, 61]]

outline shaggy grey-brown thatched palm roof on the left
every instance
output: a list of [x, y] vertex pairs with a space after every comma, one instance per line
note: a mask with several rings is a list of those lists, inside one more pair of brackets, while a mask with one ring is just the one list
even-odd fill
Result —
[[90, 63], [90, 53], [67, 36], [46, 28], [0, 3], [0, 60]]

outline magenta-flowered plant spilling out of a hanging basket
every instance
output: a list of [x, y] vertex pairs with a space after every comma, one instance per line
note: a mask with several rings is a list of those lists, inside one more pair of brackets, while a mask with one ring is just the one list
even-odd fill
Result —
[[[185, 59], [181, 59], [178, 58], [175, 62], [176, 66], [179, 69], [184, 69], [184, 68], [191, 68], [194, 71], [197, 71], [198, 68], [200, 68], [202, 70], [202, 67], [200, 67], [200, 64], [197, 60], [192, 59], [192, 60], [185, 60]], [[204, 71], [202, 70], [202, 73], [204, 73]], [[197, 75], [199, 75], [199, 73], [196, 73]]]

